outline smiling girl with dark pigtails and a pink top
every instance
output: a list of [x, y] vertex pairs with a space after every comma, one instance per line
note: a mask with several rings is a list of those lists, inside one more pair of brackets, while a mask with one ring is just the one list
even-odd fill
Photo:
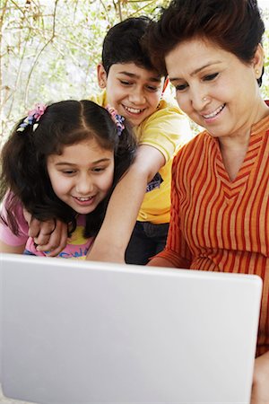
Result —
[[92, 101], [38, 104], [15, 127], [2, 151], [2, 252], [47, 255], [28, 237], [23, 205], [40, 221], [68, 224], [59, 257], [85, 257], [112, 189], [134, 160], [134, 136], [108, 110]]

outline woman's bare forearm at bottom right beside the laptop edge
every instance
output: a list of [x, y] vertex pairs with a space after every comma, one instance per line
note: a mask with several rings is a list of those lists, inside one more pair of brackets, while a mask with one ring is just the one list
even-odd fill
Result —
[[251, 404], [269, 404], [269, 352], [256, 358]]

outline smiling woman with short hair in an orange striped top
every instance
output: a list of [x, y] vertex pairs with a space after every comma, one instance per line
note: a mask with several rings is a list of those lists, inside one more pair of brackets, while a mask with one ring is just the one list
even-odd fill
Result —
[[171, 221], [152, 266], [263, 278], [252, 403], [269, 403], [269, 107], [256, 0], [175, 0], [152, 23], [152, 59], [204, 132], [173, 163]]

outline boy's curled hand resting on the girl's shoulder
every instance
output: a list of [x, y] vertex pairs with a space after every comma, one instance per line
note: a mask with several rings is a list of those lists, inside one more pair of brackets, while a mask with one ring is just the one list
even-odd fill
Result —
[[38, 251], [50, 251], [48, 257], [55, 257], [64, 250], [67, 243], [67, 224], [60, 220], [40, 222], [25, 210], [23, 215], [29, 224], [28, 235], [34, 239]]

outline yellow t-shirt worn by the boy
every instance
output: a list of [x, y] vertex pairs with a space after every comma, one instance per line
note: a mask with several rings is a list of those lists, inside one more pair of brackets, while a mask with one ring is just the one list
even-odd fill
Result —
[[[91, 97], [91, 101], [106, 107], [106, 91]], [[166, 161], [159, 170], [163, 180], [161, 186], [145, 193], [137, 220], [152, 224], [169, 223], [172, 159], [178, 148], [192, 138], [187, 117], [179, 110], [176, 101], [163, 99], [151, 116], [134, 127], [134, 134], [139, 145], [155, 147]]]

